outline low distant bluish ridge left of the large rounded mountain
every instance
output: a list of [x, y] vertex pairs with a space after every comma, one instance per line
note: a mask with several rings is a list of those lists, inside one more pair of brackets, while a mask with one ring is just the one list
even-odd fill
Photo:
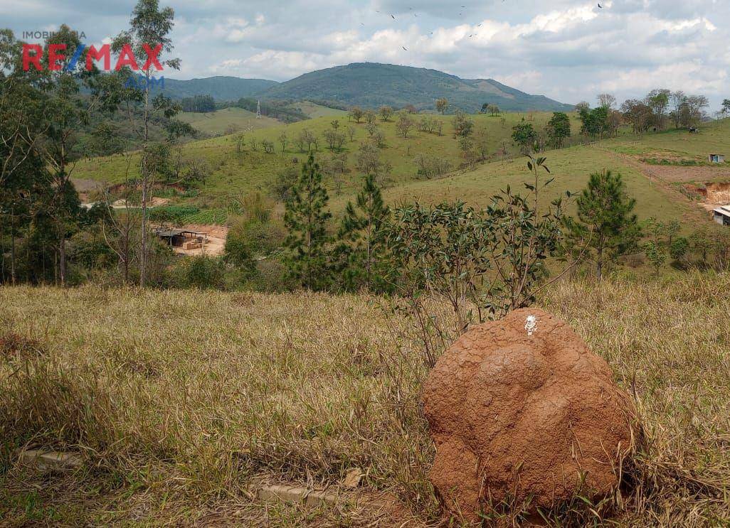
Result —
[[174, 99], [192, 96], [212, 96], [216, 101], [238, 101], [279, 84], [266, 79], [239, 77], [207, 77], [180, 81], [165, 77], [164, 93]]

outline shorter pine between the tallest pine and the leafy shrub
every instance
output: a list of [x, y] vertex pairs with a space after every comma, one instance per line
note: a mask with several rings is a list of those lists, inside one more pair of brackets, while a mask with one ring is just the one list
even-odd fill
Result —
[[339, 230], [337, 253], [342, 257], [343, 285], [347, 290], [388, 290], [383, 223], [391, 214], [383, 195], [368, 174], [356, 203], [348, 202]]

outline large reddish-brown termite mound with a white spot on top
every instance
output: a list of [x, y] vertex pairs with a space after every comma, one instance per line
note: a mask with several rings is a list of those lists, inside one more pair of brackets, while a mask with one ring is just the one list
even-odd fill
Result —
[[[537, 317], [532, 335], [528, 316]], [[539, 309], [461, 335], [431, 370], [422, 401], [437, 448], [429, 478], [467, 521], [488, 505], [534, 512], [579, 490], [607, 496], [632, 447], [634, 406], [607, 363]]]

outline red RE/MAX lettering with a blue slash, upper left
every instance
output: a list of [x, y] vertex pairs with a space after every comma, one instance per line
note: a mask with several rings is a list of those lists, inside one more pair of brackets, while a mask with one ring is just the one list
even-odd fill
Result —
[[[28, 71], [31, 69], [32, 64], [37, 71], [42, 71], [47, 64], [47, 68], [51, 71], [74, 71], [78, 62], [82, 60], [85, 50], [86, 45], [79, 44], [74, 55], [66, 63], [66, 66], [61, 66], [61, 63], [66, 61], [66, 54], [64, 53], [66, 51], [66, 44], [49, 44], [46, 57], [47, 61], [45, 63], [42, 63], [43, 47], [40, 44], [23, 44], [23, 70]], [[144, 66], [142, 66], [142, 70], [147, 71], [154, 68], [157, 71], [161, 71], [162, 64], [158, 59], [158, 55], [162, 50], [162, 44], [157, 44], [154, 48], [150, 47], [149, 44], [142, 44], [142, 50], [147, 55], [147, 60]], [[99, 61], [102, 62], [102, 69], [104, 71], [111, 71], [111, 50], [109, 44], [104, 44], [99, 50], [94, 46], [88, 48], [85, 57], [86, 71], [91, 71], [93, 69], [93, 63]], [[124, 66], [129, 66], [134, 71], [140, 69], [137, 58], [134, 56], [134, 52], [129, 44], [123, 45], [114, 69], [115, 71], [119, 71]]]

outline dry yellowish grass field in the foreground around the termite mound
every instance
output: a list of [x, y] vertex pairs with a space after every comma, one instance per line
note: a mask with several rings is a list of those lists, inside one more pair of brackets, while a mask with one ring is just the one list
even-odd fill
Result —
[[[730, 523], [730, 276], [553, 284], [568, 321], [634, 397], [646, 442], [634, 486], [596, 526]], [[418, 392], [427, 370], [383, 300], [0, 288], [0, 524], [411, 526], [438, 519]], [[83, 314], [83, 317], [79, 317]], [[49, 476], [14, 449], [77, 451]], [[403, 508], [266, 505], [258, 478], [364, 490]], [[563, 525], [576, 525], [570, 516]]]

